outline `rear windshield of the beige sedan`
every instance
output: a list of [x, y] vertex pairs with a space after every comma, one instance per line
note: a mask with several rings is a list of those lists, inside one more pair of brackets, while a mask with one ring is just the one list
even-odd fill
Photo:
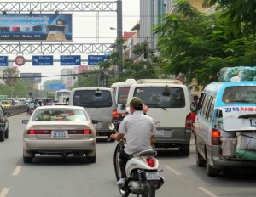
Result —
[[32, 115], [32, 121], [88, 121], [89, 118], [80, 109], [38, 109]]

